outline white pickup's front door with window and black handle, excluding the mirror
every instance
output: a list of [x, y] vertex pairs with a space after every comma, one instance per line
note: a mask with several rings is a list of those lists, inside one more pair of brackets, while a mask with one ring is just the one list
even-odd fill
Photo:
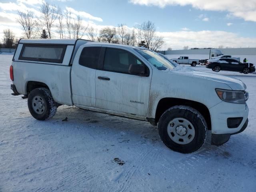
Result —
[[137, 76], [128, 72], [130, 64], [145, 65], [138, 57], [125, 48], [106, 47], [103, 68], [95, 76], [96, 108], [147, 115], [151, 73]]

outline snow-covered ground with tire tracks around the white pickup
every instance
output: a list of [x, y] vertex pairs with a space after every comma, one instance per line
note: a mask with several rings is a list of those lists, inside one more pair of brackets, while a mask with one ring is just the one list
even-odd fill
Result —
[[246, 83], [248, 128], [220, 147], [208, 134], [201, 150], [179, 154], [148, 122], [70, 106], [35, 120], [27, 100], [11, 95], [11, 60], [0, 55], [0, 192], [256, 191], [256, 74], [218, 73]]

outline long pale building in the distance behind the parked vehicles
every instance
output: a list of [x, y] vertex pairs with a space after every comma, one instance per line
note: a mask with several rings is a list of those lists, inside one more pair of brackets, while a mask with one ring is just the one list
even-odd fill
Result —
[[[213, 50], [216, 49], [171, 50], [164, 51], [164, 54], [170, 59], [178, 58], [179, 56], [189, 56], [191, 59], [209, 59], [210, 51], [212, 54]], [[248, 62], [256, 64], [256, 48], [226, 48], [218, 50], [224, 55], [240, 58], [241, 62], [246, 58]]]

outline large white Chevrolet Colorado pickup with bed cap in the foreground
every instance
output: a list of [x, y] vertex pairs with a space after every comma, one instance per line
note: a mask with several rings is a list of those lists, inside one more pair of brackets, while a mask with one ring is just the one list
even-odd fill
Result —
[[12, 95], [37, 120], [65, 104], [148, 121], [163, 143], [190, 153], [208, 130], [221, 145], [248, 124], [248, 93], [234, 78], [184, 70], [155, 52], [87, 40], [21, 39], [10, 66]]

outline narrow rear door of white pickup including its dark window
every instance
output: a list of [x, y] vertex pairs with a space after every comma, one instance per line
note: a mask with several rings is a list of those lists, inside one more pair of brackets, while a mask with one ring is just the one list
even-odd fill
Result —
[[79, 48], [71, 70], [72, 99], [74, 104], [95, 107], [95, 74], [101, 46]]

